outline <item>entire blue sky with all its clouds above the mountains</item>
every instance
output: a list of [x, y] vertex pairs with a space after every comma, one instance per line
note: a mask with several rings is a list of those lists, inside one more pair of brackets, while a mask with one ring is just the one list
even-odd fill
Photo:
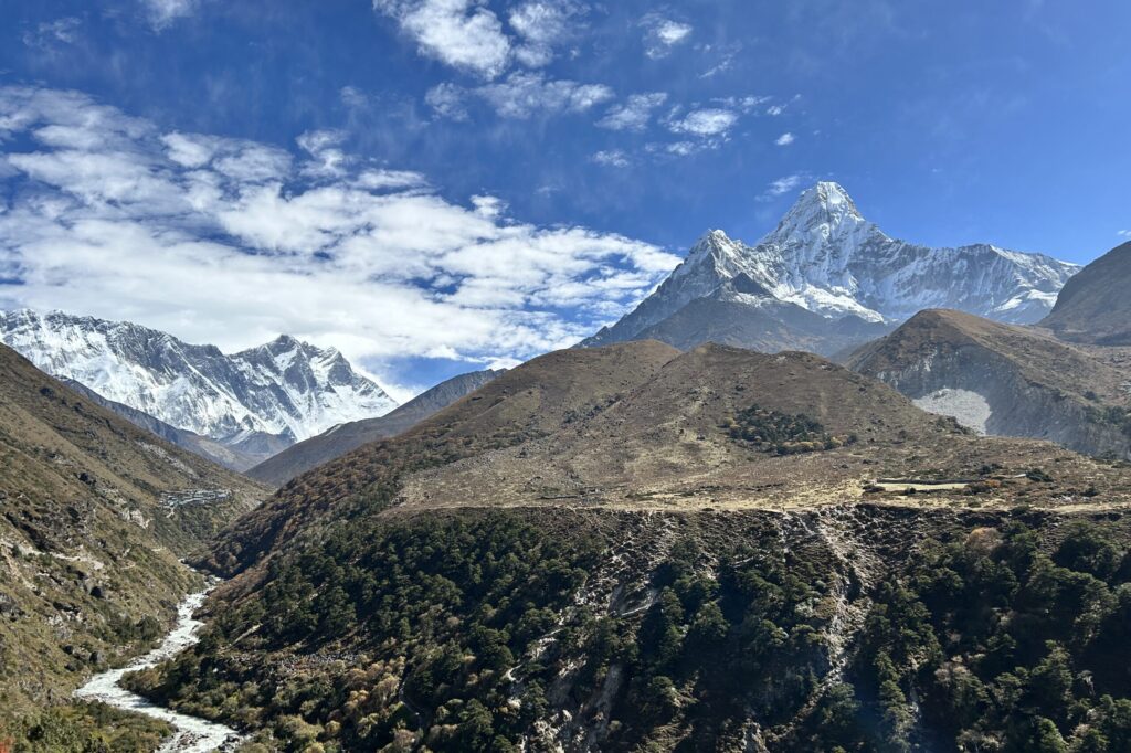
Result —
[[1086, 262], [1131, 236], [1129, 28], [1116, 0], [0, 0], [0, 304], [286, 330], [414, 389], [572, 341], [817, 179], [899, 237]]

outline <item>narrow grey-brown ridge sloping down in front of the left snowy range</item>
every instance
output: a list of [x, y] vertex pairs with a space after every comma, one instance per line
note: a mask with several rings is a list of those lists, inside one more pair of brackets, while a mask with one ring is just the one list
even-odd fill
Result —
[[248, 476], [282, 486], [295, 476], [340, 458], [362, 444], [396, 436], [412, 429], [438, 410], [497, 379], [501, 373], [502, 371], [487, 370], [454, 376], [379, 418], [342, 424], [323, 434], [299, 442], [251, 468]]

